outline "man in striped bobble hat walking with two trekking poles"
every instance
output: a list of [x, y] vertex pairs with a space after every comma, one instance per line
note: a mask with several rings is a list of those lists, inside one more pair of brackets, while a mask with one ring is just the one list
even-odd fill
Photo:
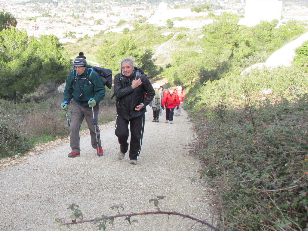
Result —
[[[70, 145], [71, 152], [68, 157], [80, 156], [80, 137], [79, 129], [84, 118], [90, 130], [92, 148], [96, 148], [98, 156], [103, 156], [103, 148], [100, 140], [100, 132], [98, 123], [99, 102], [105, 96], [105, 87], [99, 74], [87, 67], [87, 59], [83, 52], [74, 61], [75, 70], [68, 74], [66, 85], [64, 88], [64, 101], [61, 104], [62, 110], [67, 110], [71, 102], [71, 123], [70, 123]], [[91, 75], [88, 76], [91, 72]], [[92, 112], [93, 108], [93, 112]], [[93, 113], [96, 121], [94, 125]], [[96, 134], [95, 134], [96, 129]], [[97, 138], [97, 140], [96, 140]], [[98, 144], [98, 149], [97, 149]]]

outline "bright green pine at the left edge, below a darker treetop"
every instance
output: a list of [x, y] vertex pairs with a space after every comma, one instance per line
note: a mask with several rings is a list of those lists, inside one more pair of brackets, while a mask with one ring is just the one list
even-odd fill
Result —
[[26, 31], [2, 30], [0, 38], [0, 94], [16, 101], [17, 92], [30, 93], [38, 85], [39, 61], [27, 49]]

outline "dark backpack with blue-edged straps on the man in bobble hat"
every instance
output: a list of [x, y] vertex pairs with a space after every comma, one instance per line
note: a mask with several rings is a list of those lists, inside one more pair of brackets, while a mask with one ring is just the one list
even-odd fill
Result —
[[[102, 68], [102, 67], [92, 67], [90, 65], [87, 65], [87, 67], [89, 68], [88, 73], [87, 73], [87, 79], [90, 82], [91, 82], [91, 79], [90, 79], [91, 73], [92, 73], [92, 71], [95, 71], [99, 74], [99, 77], [103, 82], [103, 85], [108, 87], [109, 89], [111, 89], [111, 87], [112, 87], [112, 70]], [[73, 68], [73, 76], [74, 75], [75, 75], [75, 78], [73, 79], [73, 85], [75, 83], [76, 76], [77, 76], [77, 73], [75, 71], [75, 67]]]

